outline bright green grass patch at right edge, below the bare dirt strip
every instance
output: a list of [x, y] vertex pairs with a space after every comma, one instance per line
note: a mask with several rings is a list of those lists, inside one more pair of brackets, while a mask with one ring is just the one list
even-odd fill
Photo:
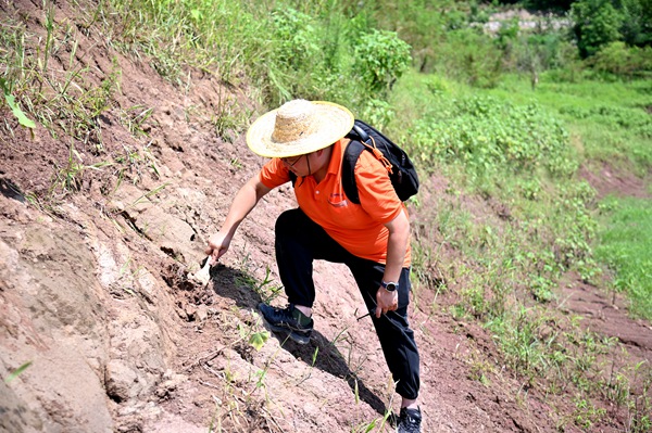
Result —
[[652, 320], [652, 201], [605, 199], [597, 257], [614, 271], [614, 288], [627, 293], [630, 311]]

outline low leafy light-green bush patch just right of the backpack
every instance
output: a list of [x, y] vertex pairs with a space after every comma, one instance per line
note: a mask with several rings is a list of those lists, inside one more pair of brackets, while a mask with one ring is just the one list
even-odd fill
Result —
[[425, 166], [462, 161], [471, 170], [513, 173], [544, 168], [569, 176], [577, 168], [562, 124], [537, 105], [513, 106], [493, 98], [455, 101], [425, 115], [409, 133]]

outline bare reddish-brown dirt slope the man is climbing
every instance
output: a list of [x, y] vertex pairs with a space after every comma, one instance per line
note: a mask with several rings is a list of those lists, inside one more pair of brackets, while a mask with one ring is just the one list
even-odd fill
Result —
[[[39, 5], [21, 1], [0, 13], [20, 11], [39, 31]], [[75, 20], [65, 3], [55, 12], [59, 21]], [[309, 345], [283, 335], [260, 351], [250, 344], [264, 331], [255, 306], [279, 284], [273, 227], [294, 206], [290, 187], [269, 194], [241, 226], [206, 288], [186, 280], [231, 196], [263, 163], [241, 135], [225, 141], [209, 122], [225, 98], [254, 109], [246, 89], [192, 73], [183, 91], [101, 39], [78, 37], [89, 82], [102, 79], [112, 58], [122, 69], [121, 92], [98, 120], [101, 151], [53, 139], [42, 127], [30, 138], [0, 109], [13, 130], [3, 129], [0, 141], [0, 375], [30, 362], [0, 382], [0, 431], [334, 433], [367, 431], [373, 420], [373, 431], [387, 430], [381, 419], [387, 408], [398, 409], [397, 396], [371, 321], [356, 320], [364, 304], [346, 268], [316, 266]], [[120, 122], [120, 109], [133, 105], [153, 109], [139, 138]], [[72, 144], [84, 167], [133, 158], [122, 171], [124, 164], [76, 170], [74, 188], [50, 191], [70, 168]], [[424, 209], [437, 211], [431, 198], [444, 194], [442, 181], [424, 179]], [[426, 215], [412, 209], [422, 226]], [[562, 308], [606, 334], [631, 335], [622, 347], [650, 360], [649, 326], [591, 289], [572, 279], [565, 298], [578, 302]], [[575, 431], [546, 396], [528, 393], [497, 364], [485, 330], [451, 318], [452, 302], [454, 293], [424, 290], [411, 310], [422, 353], [423, 431]], [[488, 380], [479, 381], [476, 368], [485, 364]], [[624, 431], [624, 424], [599, 428]]]

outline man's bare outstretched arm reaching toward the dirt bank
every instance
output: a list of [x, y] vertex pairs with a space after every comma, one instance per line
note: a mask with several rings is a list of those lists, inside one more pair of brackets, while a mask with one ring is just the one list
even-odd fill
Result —
[[230, 241], [236, 234], [236, 230], [240, 222], [255, 207], [258, 202], [267, 194], [272, 189], [265, 187], [261, 181], [260, 174], [256, 174], [240, 188], [228, 209], [226, 219], [222, 224], [220, 231], [209, 239], [209, 245], [205, 250], [206, 254], [213, 256], [212, 265], [217, 263], [217, 259], [226, 253]]

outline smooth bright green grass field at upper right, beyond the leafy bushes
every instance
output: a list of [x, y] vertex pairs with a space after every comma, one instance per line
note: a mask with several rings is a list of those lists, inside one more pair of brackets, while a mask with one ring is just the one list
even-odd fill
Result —
[[564, 120], [587, 161], [644, 175], [652, 166], [652, 85], [649, 80], [560, 82], [552, 73], [532, 90], [526, 77], [504, 76], [489, 94], [512, 103], [537, 102]]

